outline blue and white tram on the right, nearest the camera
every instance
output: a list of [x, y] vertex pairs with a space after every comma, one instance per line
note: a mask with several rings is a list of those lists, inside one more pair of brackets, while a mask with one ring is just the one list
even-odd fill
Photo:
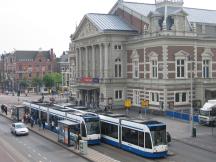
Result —
[[122, 115], [99, 115], [102, 141], [148, 158], [166, 157], [166, 125], [132, 120]]

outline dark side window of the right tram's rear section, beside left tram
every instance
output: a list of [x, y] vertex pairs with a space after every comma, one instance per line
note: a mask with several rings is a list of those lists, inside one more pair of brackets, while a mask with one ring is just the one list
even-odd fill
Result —
[[101, 122], [101, 134], [118, 139], [118, 126]]

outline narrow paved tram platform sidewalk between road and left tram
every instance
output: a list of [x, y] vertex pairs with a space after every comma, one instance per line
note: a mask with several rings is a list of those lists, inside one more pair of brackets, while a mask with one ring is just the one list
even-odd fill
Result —
[[[8, 118], [11, 120], [10, 118], [10, 113], [7, 114], [7, 116], [5, 114], [2, 114], [0, 113], [0, 115]], [[90, 147], [88, 147], [88, 151], [87, 151], [87, 154], [86, 155], [83, 155], [81, 153], [79, 153], [79, 150], [76, 150], [73, 146], [71, 147], [68, 147], [68, 146], [65, 146], [64, 144], [61, 144], [58, 142], [58, 135], [49, 131], [49, 130], [45, 130], [43, 131], [42, 129], [39, 130], [39, 127], [38, 125], [34, 125], [33, 128], [31, 128], [30, 125], [27, 125], [29, 130], [31, 130], [32, 132], [46, 138], [47, 140], [51, 141], [51, 142], [54, 142], [56, 143], [57, 145], [63, 147], [64, 149], [70, 151], [70, 152], [73, 152], [74, 154], [88, 160], [88, 161], [91, 161], [91, 162], [119, 162], [118, 160], [115, 160], [109, 156], [106, 156], [100, 152], [97, 152], [93, 149], [91, 149]]]

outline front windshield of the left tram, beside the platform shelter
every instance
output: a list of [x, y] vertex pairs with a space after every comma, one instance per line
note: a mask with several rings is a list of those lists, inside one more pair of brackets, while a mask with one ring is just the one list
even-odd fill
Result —
[[87, 134], [100, 134], [99, 118], [85, 118]]

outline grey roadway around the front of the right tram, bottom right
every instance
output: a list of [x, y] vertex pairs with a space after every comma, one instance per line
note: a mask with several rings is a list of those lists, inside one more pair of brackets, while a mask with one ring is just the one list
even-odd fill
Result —
[[216, 159], [216, 154], [213, 152], [192, 147], [178, 141], [173, 141], [169, 146], [169, 151], [172, 155], [167, 158], [154, 160], [142, 158], [106, 144], [93, 146], [92, 148], [122, 162], [215, 162]]

